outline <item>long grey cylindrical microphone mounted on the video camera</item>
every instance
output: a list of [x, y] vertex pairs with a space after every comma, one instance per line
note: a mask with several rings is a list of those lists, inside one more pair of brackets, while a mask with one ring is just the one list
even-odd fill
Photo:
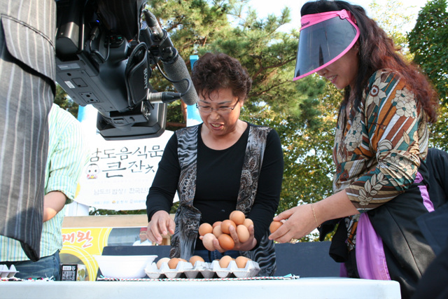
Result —
[[[171, 39], [169, 39], [167, 31], [160, 27], [159, 22], [153, 13], [145, 10], [144, 15], [146, 24], [151, 30], [153, 38], [158, 41], [160, 60], [162, 60], [163, 69], [168, 75], [169, 81], [172, 82], [174, 88], [181, 93], [183, 102], [187, 105], [196, 104], [198, 98], [195, 87], [191, 81], [190, 73], [188, 73], [188, 69], [181, 55], [179, 55], [179, 52], [174, 48]], [[172, 95], [169, 95], [168, 97], [171, 96]]]

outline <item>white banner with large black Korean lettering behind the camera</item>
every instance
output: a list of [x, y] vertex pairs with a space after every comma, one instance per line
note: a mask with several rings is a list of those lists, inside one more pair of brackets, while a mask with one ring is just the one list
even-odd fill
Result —
[[[92, 129], [96, 127], [85, 128]], [[76, 202], [96, 209], [146, 209], [146, 196], [172, 134], [119, 141], [90, 134], [90, 158], [80, 176]]]

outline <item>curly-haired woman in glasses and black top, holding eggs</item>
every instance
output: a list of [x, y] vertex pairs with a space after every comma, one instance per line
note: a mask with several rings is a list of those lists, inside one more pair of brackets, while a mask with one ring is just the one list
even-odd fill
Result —
[[[211, 262], [223, 255], [244, 255], [260, 265], [260, 276], [276, 270], [274, 243], [267, 237], [279, 204], [283, 152], [269, 127], [239, 119], [252, 81], [240, 62], [223, 53], [207, 53], [193, 68], [197, 107], [203, 123], [177, 130], [168, 141], [146, 200], [148, 239], [160, 243], [172, 234], [171, 257], [199, 255]], [[180, 205], [169, 216], [174, 194]], [[202, 223], [228, 219], [234, 210], [251, 218], [250, 236], [225, 251], [218, 240], [208, 251], [198, 233]]]

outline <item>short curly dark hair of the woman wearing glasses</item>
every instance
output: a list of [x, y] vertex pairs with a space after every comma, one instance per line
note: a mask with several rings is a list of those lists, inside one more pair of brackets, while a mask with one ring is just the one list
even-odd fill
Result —
[[197, 95], [209, 98], [212, 92], [230, 88], [244, 102], [252, 87], [252, 79], [241, 63], [224, 53], [206, 53], [193, 66], [191, 76]]

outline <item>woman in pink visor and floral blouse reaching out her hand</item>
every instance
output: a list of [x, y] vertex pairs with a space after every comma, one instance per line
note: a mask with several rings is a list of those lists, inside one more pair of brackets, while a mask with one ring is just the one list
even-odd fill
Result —
[[[415, 219], [435, 208], [427, 193], [428, 127], [437, 95], [360, 6], [302, 6], [295, 80], [317, 73], [344, 89], [333, 158], [334, 194], [284, 211], [269, 238], [288, 242], [319, 227], [341, 274], [400, 282], [409, 298], [434, 258]], [[348, 290], [349, 291], [349, 290]]]

